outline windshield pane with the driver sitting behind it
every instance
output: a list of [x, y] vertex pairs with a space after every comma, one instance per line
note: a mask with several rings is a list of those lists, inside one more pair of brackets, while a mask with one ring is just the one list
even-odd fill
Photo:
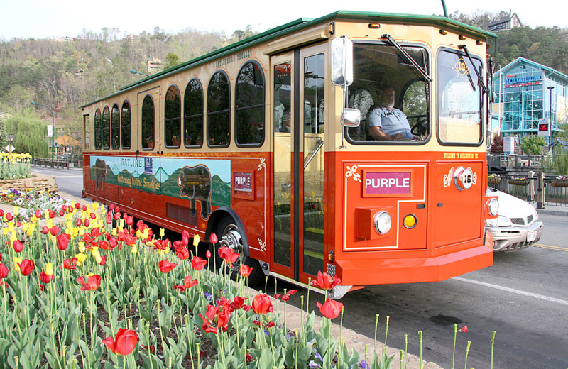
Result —
[[[425, 48], [403, 46], [422, 70], [430, 70]], [[391, 44], [354, 44], [354, 82], [349, 107], [361, 111], [361, 125], [346, 130], [360, 145], [420, 143], [430, 133], [428, 84]]]

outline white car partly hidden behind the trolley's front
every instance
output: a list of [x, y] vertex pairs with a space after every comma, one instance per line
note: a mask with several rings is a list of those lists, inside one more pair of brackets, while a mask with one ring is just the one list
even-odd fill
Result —
[[497, 218], [485, 222], [495, 241], [493, 250], [520, 250], [540, 240], [542, 221], [538, 220], [534, 206], [491, 187], [487, 187], [487, 194], [499, 198]]

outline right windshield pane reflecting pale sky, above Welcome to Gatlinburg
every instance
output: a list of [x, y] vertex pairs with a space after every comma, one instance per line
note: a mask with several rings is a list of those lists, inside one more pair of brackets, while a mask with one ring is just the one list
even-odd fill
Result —
[[438, 139], [442, 144], [481, 144], [482, 88], [474, 68], [483, 75], [481, 60], [454, 50], [438, 53]]

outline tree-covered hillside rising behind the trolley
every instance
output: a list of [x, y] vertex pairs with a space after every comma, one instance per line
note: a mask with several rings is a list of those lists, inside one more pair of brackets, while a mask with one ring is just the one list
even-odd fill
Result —
[[[503, 13], [456, 12], [450, 18], [486, 28]], [[56, 136], [70, 133], [81, 139], [77, 107], [141, 78], [129, 70], [148, 73], [146, 63], [153, 58], [162, 61], [162, 68], [172, 67], [253, 33], [247, 27], [231, 37], [194, 29], [168, 34], [160, 28], [126, 38], [119, 38], [119, 34], [118, 28], [104, 28], [100, 32], [83, 31], [67, 41], [0, 38], [0, 112], [24, 119], [39, 117], [50, 123], [48, 109], [33, 107], [31, 101], [45, 104], [55, 113]], [[567, 29], [523, 27], [498, 36], [495, 69], [523, 56], [568, 74]], [[0, 119], [0, 145], [4, 146], [2, 126]]]

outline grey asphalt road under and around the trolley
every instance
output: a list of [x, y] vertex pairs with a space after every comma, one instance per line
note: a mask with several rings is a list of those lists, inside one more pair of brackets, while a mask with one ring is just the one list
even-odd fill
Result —
[[[81, 197], [82, 172], [34, 167], [54, 175], [60, 190]], [[422, 355], [443, 368], [452, 368], [454, 323], [468, 326], [457, 337], [456, 368], [490, 368], [491, 331], [496, 331], [493, 368], [568, 368], [568, 217], [540, 216], [545, 231], [537, 246], [497, 253], [493, 266], [450, 280], [404, 285], [378, 285], [349, 292], [343, 324], [359, 334], [384, 341], [386, 316], [388, 346], [419, 355], [418, 331], [423, 331]], [[296, 288], [278, 282], [283, 288]], [[273, 287], [268, 288], [274, 293]], [[300, 290], [299, 294], [306, 294]], [[323, 296], [310, 294], [310, 308]], [[290, 299], [300, 305], [300, 299]]]

